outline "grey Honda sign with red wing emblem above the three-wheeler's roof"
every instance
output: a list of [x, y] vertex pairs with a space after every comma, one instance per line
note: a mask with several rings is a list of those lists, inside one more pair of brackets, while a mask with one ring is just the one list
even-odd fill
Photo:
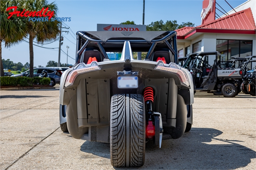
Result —
[[146, 31], [146, 25], [97, 24], [97, 31]]

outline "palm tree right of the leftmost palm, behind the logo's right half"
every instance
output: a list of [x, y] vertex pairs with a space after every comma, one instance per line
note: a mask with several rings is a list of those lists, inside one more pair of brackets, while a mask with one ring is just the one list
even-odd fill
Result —
[[[47, 0], [26, 0], [24, 2], [24, 9], [29, 11], [40, 11], [42, 8], [47, 8], [54, 11], [54, 17], [58, 11], [57, 5], [52, 2], [48, 3]], [[55, 40], [60, 33], [60, 22], [55, 21], [26, 21], [27, 33], [29, 35], [29, 55], [30, 55], [30, 77], [33, 77], [34, 67], [34, 51], [33, 40], [36, 39], [38, 43], [49, 42]]]

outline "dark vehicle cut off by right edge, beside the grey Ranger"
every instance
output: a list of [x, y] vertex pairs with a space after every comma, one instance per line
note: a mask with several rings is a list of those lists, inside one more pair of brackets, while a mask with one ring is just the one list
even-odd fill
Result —
[[242, 76], [241, 90], [245, 94], [255, 96], [255, 67], [256, 67], [256, 56], [246, 57], [247, 61], [241, 66], [239, 74]]

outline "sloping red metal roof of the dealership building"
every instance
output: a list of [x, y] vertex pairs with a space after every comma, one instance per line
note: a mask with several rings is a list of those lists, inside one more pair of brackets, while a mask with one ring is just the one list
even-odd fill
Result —
[[197, 27], [177, 29], [178, 39], [186, 39], [196, 32], [202, 33], [249, 33], [255, 34], [256, 26], [251, 8], [236, 12]]

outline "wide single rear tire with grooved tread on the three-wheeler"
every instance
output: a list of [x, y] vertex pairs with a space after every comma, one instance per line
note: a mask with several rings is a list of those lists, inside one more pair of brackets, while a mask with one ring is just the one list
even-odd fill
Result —
[[110, 110], [110, 161], [114, 167], [139, 167], [145, 161], [144, 98], [115, 94]]

